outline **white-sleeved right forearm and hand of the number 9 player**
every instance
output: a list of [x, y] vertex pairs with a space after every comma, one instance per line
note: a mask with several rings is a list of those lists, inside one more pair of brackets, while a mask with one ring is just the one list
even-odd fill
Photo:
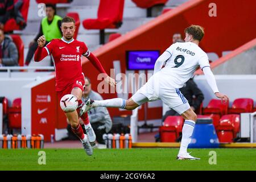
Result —
[[221, 98], [221, 101], [222, 100], [224, 100], [224, 101], [229, 100], [229, 98], [228, 98], [228, 96], [226, 96], [226, 94], [222, 94], [218, 91], [216, 80], [214, 78], [214, 75], [213, 75], [212, 71], [210, 70], [210, 67], [204, 67], [203, 72], [204, 72], [205, 78], [207, 79], [207, 82], [210, 85], [210, 88], [212, 88], [215, 96], [218, 97], [218, 98]]

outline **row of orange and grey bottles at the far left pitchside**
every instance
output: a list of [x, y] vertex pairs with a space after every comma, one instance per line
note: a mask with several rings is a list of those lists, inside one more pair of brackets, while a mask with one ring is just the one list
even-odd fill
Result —
[[0, 149], [15, 149], [15, 148], [43, 148], [44, 136], [38, 135], [0, 135]]

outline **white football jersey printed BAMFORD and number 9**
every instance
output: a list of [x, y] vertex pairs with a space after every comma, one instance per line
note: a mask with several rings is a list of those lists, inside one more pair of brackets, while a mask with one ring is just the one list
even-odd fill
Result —
[[210, 66], [207, 53], [195, 43], [177, 42], [166, 51], [170, 53], [171, 57], [159, 74], [174, 88], [183, 87], [185, 82], [193, 77], [193, 73], [199, 65], [201, 69]]

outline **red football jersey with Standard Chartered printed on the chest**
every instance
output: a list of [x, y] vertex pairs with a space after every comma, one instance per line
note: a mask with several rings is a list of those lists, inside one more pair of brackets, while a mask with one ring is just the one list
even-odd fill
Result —
[[56, 91], [64, 90], [76, 80], [84, 80], [81, 56], [88, 57], [90, 51], [84, 42], [72, 39], [69, 42], [53, 39], [46, 47], [48, 55], [52, 56], [56, 73]]

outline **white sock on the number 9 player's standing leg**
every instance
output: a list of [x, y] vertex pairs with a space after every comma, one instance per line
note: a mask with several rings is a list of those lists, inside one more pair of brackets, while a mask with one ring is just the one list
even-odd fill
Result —
[[179, 154], [187, 153], [188, 144], [191, 142], [191, 136], [196, 122], [192, 120], [185, 120], [183, 129], [182, 129], [182, 139], [180, 143]]

